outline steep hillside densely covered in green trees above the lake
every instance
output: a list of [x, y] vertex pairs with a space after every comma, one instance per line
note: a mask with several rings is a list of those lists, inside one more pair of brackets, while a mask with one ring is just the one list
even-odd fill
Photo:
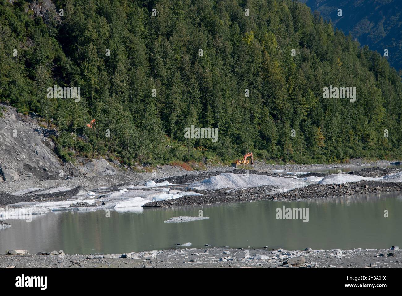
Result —
[[[57, 128], [64, 160], [401, 155], [400, 75], [305, 4], [59, 0], [41, 13], [35, 3], [1, 0], [0, 101]], [[53, 85], [80, 87], [80, 101], [49, 99]], [[356, 100], [324, 99], [330, 85], [356, 87]], [[185, 139], [191, 125], [217, 127], [217, 141]]]

